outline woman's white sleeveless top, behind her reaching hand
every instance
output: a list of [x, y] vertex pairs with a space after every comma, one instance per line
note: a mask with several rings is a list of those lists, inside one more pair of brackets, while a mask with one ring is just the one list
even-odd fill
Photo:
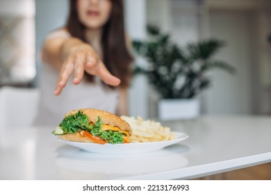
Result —
[[[69, 33], [58, 30], [48, 38], [57, 36], [67, 37]], [[95, 82], [83, 79], [79, 85], [73, 85], [70, 78], [60, 96], [54, 96], [58, 72], [43, 62], [40, 70], [40, 108], [35, 125], [58, 125], [72, 109], [96, 108], [116, 112], [119, 90], [103, 85], [98, 77]]]

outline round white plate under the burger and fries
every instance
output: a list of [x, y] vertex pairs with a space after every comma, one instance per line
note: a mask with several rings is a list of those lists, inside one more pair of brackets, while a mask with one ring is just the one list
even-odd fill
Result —
[[118, 143], [118, 144], [98, 144], [98, 143], [83, 143], [75, 141], [65, 141], [58, 139], [59, 141], [65, 142], [69, 145], [81, 148], [82, 150], [88, 152], [96, 152], [103, 154], [133, 154], [133, 153], [144, 153], [144, 152], [154, 152], [161, 150], [168, 145], [179, 143], [184, 139], [188, 138], [188, 135], [181, 132], [174, 132], [176, 139], [170, 141], [155, 141], [147, 143]]

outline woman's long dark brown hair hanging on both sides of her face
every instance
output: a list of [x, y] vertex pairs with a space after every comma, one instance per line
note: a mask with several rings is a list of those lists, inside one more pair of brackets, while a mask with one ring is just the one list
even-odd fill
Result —
[[[79, 21], [76, 1], [77, 0], [69, 1], [69, 17], [66, 28], [73, 37], [78, 37], [86, 42], [86, 27]], [[111, 15], [104, 25], [103, 34], [101, 35], [101, 49], [103, 51], [103, 61], [106, 68], [114, 76], [122, 80], [120, 83], [121, 87], [128, 87], [131, 78], [130, 64], [133, 62], [133, 58], [126, 46], [122, 0], [112, 1]], [[90, 76], [86, 73], [85, 77], [90, 81], [94, 80], [94, 76]]]

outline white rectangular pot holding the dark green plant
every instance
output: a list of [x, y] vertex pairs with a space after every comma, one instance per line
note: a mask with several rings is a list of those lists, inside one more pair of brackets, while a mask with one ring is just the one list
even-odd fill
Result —
[[158, 102], [161, 120], [191, 119], [199, 116], [198, 99], [163, 99]]

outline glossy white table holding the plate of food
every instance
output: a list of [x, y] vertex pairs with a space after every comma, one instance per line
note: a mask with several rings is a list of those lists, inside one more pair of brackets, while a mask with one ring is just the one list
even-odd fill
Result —
[[57, 141], [54, 127], [0, 130], [0, 179], [192, 179], [271, 161], [271, 117], [163, 123], [189, 138], [157, 152], [104, 155]]

